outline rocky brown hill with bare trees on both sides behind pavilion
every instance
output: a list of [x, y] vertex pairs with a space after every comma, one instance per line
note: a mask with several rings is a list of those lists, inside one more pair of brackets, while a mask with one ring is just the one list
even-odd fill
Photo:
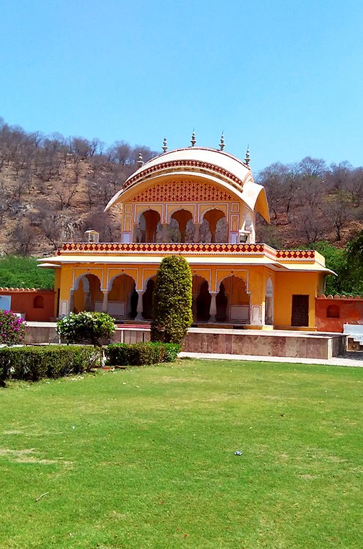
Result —
[[[144, 161], [158, 154], [125, 141], [105, 149], [98, 139], [29, 134], [0, 120], [0, 254], [47, 254], [82, 240], [87, 229], [104, 242], [120, 240], [117, 209], [103, 209], [136, 170], [140, 153]], [[255, 179], [271, 208], [271, 225], [258, 222], [259, 242], [344, 246], [363, 229], [362, 168], [307, 158], [271, 165]]]

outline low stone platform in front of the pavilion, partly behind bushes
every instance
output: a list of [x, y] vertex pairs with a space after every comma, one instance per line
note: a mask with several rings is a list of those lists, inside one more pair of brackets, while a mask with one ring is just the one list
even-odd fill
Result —
[[[55, 323], [29, 322], [27, 344], [58, 343]], [[119, 325], [113, 342], [148, 341], [147, 324]], [[285, 330], [190, 328], [183, 351], [232, 355], [329, 359], [347, 350], [345, 334]]]

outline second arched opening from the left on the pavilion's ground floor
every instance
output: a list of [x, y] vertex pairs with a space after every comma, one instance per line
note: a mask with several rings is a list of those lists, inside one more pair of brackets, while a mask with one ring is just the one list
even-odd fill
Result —
[[[110, 288], [111, 286], [111, 288]], [[108, 314], [114, 318], [135, 318], [138, 305], [136, 283], [128, 274], [118, 274], [110, 283]]]

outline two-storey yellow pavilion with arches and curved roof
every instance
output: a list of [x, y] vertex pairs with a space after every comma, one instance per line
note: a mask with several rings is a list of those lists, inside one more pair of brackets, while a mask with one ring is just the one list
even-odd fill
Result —
[[[194, 143], [193, 143], [194, 139]], [[198, 325], [258, 329], [315, 328], [315, 298], [323, 292], [325, 259], [314, 250], [275, 250], [255, 243], [256, 213], [269, 221], [264, 187], [244, 161], [192, 146], [164, 152], [138, 170], [110, 200], [118, 208], [121, 242], [63, 244], [40, 266], [55, 269], [54, 316], [108, 312], [119, 322], [152, 317], [155, 274], [166, 255], [182, 255], [192, 270]]]

